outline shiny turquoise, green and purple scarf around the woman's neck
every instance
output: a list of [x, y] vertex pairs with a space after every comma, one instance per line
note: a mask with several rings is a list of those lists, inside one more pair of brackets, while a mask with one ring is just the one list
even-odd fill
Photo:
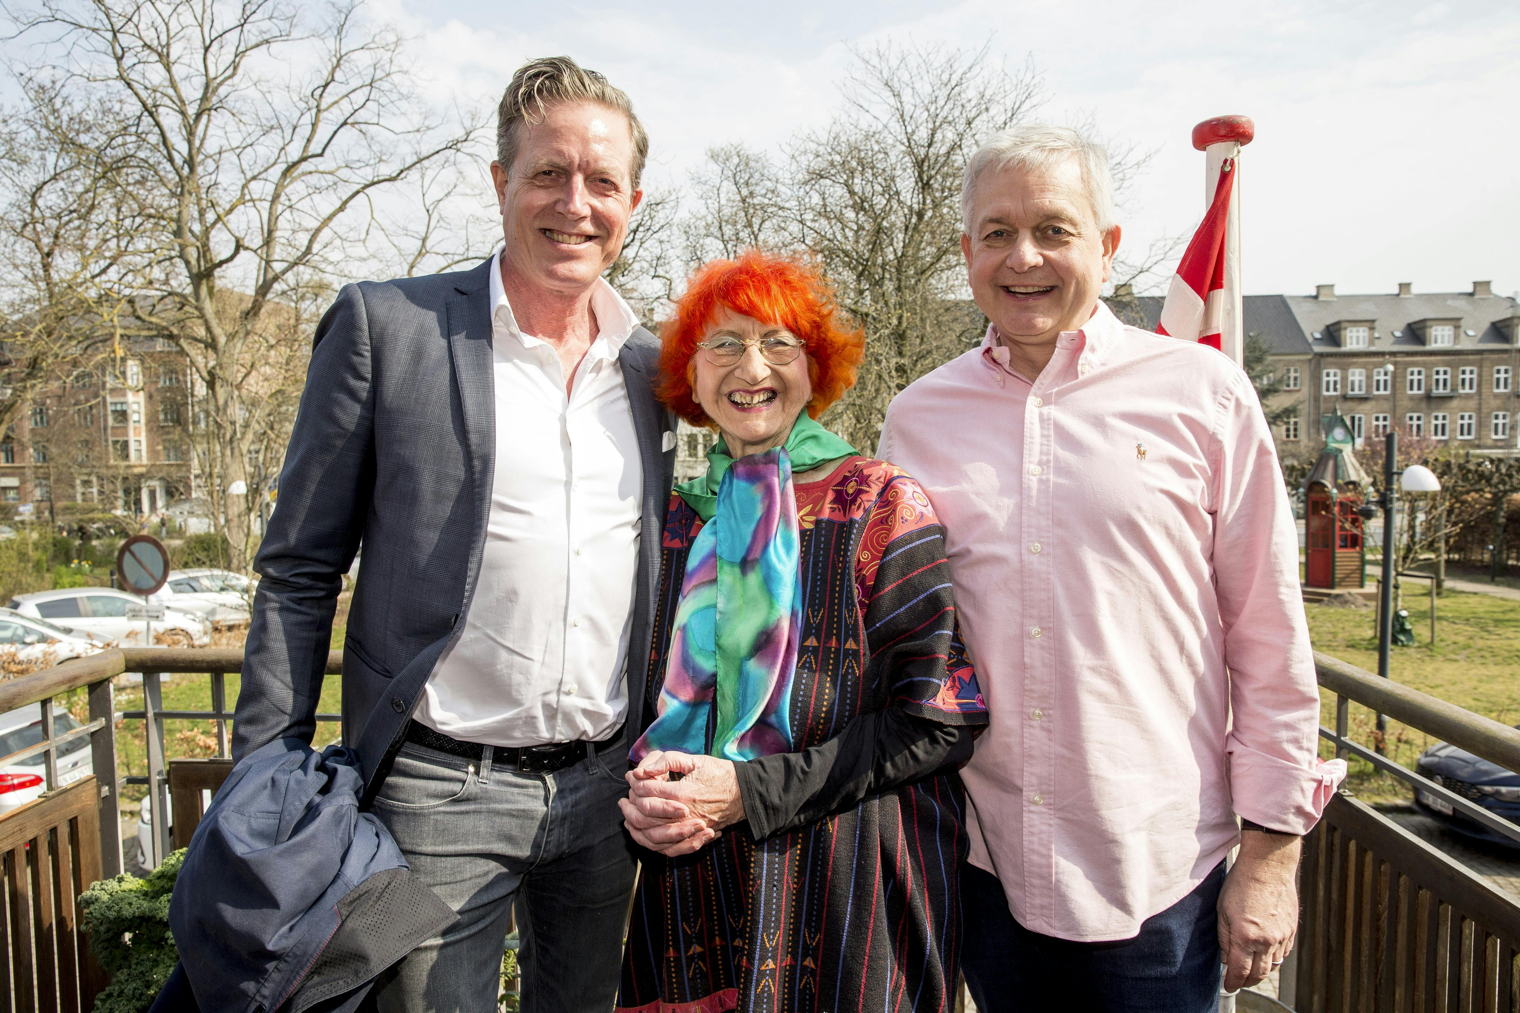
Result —
[[792, 750], [787, 702], [803, 627], [792, 466], [850, 454], [804, 415], [786, 447], [739, 460], [714, 448], [707, 475], [676, 488], [705, 524], [687, 553], [658, 717], [634, 746], [635, 762], [657, 749], [733, 761]]

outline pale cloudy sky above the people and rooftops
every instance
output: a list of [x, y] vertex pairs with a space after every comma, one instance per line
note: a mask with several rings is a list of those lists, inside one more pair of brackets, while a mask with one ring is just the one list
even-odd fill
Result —
[[853, 53], [944, 46], [1031, 59], [1038, 118], [1154, 152], [1125, 245], [1204, 211], [1199, 120], [1245, 114], [1248, 293], [1520, 292], [1520, 5], [489, 3], [375, 0], [436, 96], [492, 106], [524, 59], [567, 53], [623, 88], [651, 135], [646, 190], [716, 144], [775, 150], [841, 103]]

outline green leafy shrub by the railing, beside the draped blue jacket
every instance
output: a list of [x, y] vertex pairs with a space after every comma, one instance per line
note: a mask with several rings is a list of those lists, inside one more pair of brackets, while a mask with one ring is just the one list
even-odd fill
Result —
[[90, 951], [111, 975], [96, 1013], [141, 1013], [173, 972], [179, 951], [169, 931], [169, 893], [184, 860], [179, 849], [146, 879], [123, 873], [79, 895]]

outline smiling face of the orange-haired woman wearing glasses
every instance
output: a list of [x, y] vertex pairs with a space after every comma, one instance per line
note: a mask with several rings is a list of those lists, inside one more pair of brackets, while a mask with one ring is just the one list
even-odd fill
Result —
[[[719, 307], [702, 340], [724, 337], [736, 342], [771, 337], [795, 340], [780, 323], [765, 323]], [[699, 348], [692, 357], [692, 393], [707, 418], [717, 424], [728, 443], [728, 454], [734, 459], [784, 443], [796, 416], [813, 398], [813, 384], [807, 378], [807, 352], [777, 366], [765, 360], [758, 346], [751, 345], [733, 366], [714, 366]]]

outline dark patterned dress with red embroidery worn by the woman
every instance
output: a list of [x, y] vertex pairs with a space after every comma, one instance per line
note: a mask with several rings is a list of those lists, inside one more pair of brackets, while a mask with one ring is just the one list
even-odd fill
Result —
[[[985, 724], [955, 632], [944, 535], [918, 483], [886, 462], [851, 457], [795, 492], [804, 629], [793, 747], [819, 746], [853, 717], [885, 708]], [[666, 668], [701, 524], [672, 497], [654, 671]], [[964, 806], [961, 779], [948, 772], [760, 841], [739, 825], [695, 855], [644, 852], [619, 1008], [948, 1013]]]

